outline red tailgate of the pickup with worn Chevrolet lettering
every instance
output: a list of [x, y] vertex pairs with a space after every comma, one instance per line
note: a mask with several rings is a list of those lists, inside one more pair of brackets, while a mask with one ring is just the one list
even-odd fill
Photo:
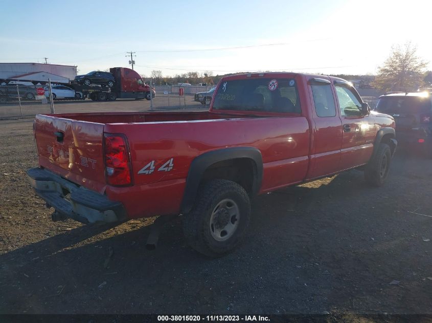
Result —
[[85, 188], [103, 193], [103, 123], [37, 115], [39, 165]]

